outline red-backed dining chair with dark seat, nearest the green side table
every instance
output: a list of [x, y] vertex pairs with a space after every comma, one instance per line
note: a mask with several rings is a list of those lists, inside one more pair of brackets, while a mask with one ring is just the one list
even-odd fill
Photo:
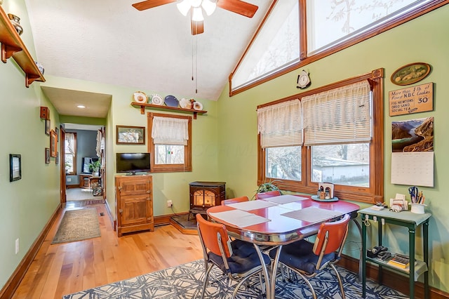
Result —
[[[279, 263], [293, 270], [304, 279], [311, 289], [314, 299], [316, 299], [316, 294], [309, 279], [315, 277], [327, 266], [332, 267], [337, 275], [342, 298], [345, 298], [342, 278], [334, 264], [340, 260], [344, 241], [347, 237], [349, 220], [349, 215], [344, 215], [338, 221], [321, 223], [314, 243], [300, 240], [281, 248]], [[275, 258], [276, 250], [270, 251], [269, 255]]]

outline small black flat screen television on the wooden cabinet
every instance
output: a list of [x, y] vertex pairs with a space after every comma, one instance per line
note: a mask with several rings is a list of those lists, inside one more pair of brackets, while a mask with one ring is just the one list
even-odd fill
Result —
[[146, 173], [151, 170], [149, 153], [139, 152], [118, 152], [116, 153], [116, 170], [118, 173]]

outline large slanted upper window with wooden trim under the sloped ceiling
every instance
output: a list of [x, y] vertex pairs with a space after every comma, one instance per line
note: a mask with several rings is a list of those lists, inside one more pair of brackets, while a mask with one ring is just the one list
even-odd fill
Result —
[[274, 0], [229, 76], [229, 95], [308, 65], [447, 3]]

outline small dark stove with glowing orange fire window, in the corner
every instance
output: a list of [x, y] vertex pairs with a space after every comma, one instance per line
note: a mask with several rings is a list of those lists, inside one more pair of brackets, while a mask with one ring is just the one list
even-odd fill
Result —
[[192, 214], [206, 214], [211, 206], [219, 206], [226, 199], [226, 182], [191, 182], [190, 211]]

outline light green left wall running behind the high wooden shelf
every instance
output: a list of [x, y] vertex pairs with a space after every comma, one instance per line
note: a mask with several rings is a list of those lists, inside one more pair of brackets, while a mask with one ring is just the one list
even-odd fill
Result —
[[[23, 1], [4, 1], [2, 8], [27, 15]], [[21, 37], [36, 57], [27, 18], [21, 18], [20, 24], [24, 28]], [[60, 203], [60, 165], [55, 158], [45, 163], [50, 137], [45, 134], [45, 121], [39, 118], [39, 107], [50, 109], [51, 128], [60, 122], [39, 83], [26, 88], [25, 75], [12, 59], [0, 63], [0, 78], [0, 286], [4, 286]], [[9, 181], [9, 154], [22, 156], [21, 180]]]

